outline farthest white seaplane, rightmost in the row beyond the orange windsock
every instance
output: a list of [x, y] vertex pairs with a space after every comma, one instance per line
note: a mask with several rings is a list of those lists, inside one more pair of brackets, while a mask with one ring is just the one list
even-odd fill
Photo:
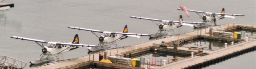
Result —
[[[183, 10], [183, 9], [179, 8], [178, 10]], [[203, 12], [203, 11], [188, 10], [188, 9], [187, 9], [187, 11], [196, 12], [197, 14], [205, 13], [205, 15], [203, 15], [203, 16], [200, 15], [201, 19], [203, 19], [203, 22], [214, 23], [214, 26], [216, 26], [216, 20], [220, 20], [225, 17], [234, 19], [235, 18], [234, 16], [244, 16], [242, 14], [227, 14], [227, 13], [225, 13], [224, 8], [222, 9], [221, 13]], [[232, 16], [230, 16], [230, 15], [232, 15]], [[200, 28], [200, 27], [205, 27], [205, 26], [211, 26], [211, 23], [207, 23], [205, 25], [195, 25], [194, 27]]]

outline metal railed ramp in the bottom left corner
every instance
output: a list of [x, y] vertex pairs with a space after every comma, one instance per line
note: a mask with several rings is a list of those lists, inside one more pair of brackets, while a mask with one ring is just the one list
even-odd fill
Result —
[[0, 67], [3, 69], [23, 69], [26, 65], [27, 63], [24, 61], [0, 55]]

